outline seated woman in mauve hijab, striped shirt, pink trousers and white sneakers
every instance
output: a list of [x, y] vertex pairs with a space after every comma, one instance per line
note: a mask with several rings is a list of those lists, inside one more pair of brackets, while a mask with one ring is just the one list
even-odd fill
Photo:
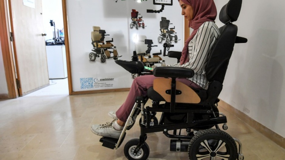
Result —
[[[206, 89], [208, 80], [205, 76], [207, 58], [216, 39], [219, 37], [219, 28], [214, 23], [217, 11], [213, 0], [180, 0], [182, 15], [190, 22], [189, 27], [194, 31], [185, 42], [180, 63], [170, 66], [193, 69], [192, 78], [178, 78], [179, 82], [195, 89]], [[125, 103], [109, 116], [114, 120], [111, 123], [92, 125], [91, 131], [99, 136], [119, 138], [123, 126], [131, 113], [136, 97], [147, 96], [147, 89], [153, 87], [153, 80], [158, 77], [145, 75], [133, 80]]]

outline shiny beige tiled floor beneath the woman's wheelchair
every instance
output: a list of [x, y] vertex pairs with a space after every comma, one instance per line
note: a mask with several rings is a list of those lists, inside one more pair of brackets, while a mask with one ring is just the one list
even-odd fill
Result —
[[[66, 93], [65, 93], [66, 92]], [[91, 124], [111, 121], [128, 92], [69, 96], [68, 91], [39, 91], [0, 101], [0, 160], [112, 160], [125, 159], [124, 144], [140, 134], [136, 125], [117, 150], [102, 147]], [[223, 108], [229, 129], [243, 143], [245, 160], [285, 160], [285, 150], [232, 116]], [[186, 152], [170, 152], [170, 139], [161, 132], [148, 134], [151, 160], [188, 159]]]

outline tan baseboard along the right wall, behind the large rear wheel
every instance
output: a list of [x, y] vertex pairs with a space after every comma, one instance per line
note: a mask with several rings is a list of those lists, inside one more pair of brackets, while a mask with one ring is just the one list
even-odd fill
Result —
[[275, 133], [274, 131], [270, 130], [266, 126], [263, 126], [259, 122], [255, 121], [254, 119], [250, 118], [240, 110], [234, 108], [233, 106], [229, 105], [228, 103], [224, 102], [223, 100], [220, 100], [219, 106], [226, 109], [230, 113], [233, 113], [234, 116], [241, 119], [243, 122], [248, 124], [249, 126], [256, 129], [258, 132], [275, 142], [277, 145], [280, 145], [283, 149], [285, 149], [285, 138], [280, 136], [279, 134]]

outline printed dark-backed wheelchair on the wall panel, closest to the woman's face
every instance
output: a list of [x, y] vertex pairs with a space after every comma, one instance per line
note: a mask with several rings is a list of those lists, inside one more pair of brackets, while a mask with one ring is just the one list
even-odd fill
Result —
[[169, 28], [170, 21], [166, 19], [165, 17], [161, 17], [160, 21], [160, 34], [159, 37], [157, 38], [157, 41], [161, 43], [162, 41], [165, 40], [166, 44], [170, 44], [171, 41], [174, 41], [175, 43], [179, 41], [177, 39], [176, 32], [174, 31], [174, 28]]

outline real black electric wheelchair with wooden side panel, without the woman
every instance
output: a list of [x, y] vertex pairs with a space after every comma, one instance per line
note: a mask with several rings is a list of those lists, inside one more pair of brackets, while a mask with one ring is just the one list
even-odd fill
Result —
[[[176, 82], [176, 78], [193, 77], [194, 72], [191, 69], [156, 67], [153, 75], [162, 78], [154, 80], [146, 97], [136, 98], [119, 139], [102, 137], [100, 142], [103, 146], [117, 149], [126, 135], [126, 130], [132, 127], [137, 115], [141, 114], [139, 139], [130, 140], [124, 147], [124, 154], [129, 160], [148, 158], [149, 146], [146, 139], [147, 133], [152, 132], [163, 132], [171, 138], [170, 151], [188, 152], [190, 160], [243, 160], [241, 142], [219, 128], [218, 124], [223, 124], [222, 128], [227, 129], [227, 119], [217, 108], [218, 96], [223, 88], [234, 44], [247, 42], [246, 38], [236, 36], [237, 26], [232, 24], [239, 16], [241, 4], [242, 0], [230, 0], [220, 11], [219, 19], [225, 25], [219, 28], [221, 35], [209, 55], [206, 76], [210, 83], [207, 90], [191, 89]], [[179, 57], [181, 52], [175, 54]], [[143, 63], [138, 61], [135, 54], [132, 61], [115, 62], [130, 73], [151, 74], [144, 70]], [[145, 106], [148, 99], [152, 100], [152, 107]], [[157, 112], [162, 112], [160, 120], [157, 125], [151, 125], [150, 122], [155, 119]], [[179, 129], [186, 129], [186, 135], [181, 135], [180, 132], [177, 134]], [[170, 134], [169, 131], [173, 133]]]

